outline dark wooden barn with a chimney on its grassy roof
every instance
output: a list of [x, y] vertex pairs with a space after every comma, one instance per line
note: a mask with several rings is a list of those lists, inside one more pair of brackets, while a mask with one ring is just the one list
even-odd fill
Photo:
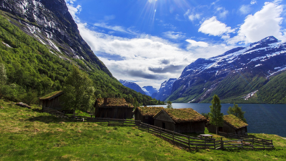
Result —
[[124, 98], [97, 98], [94, 116], [100, 118], [127, 119], [133, 117], [133, 105]]

